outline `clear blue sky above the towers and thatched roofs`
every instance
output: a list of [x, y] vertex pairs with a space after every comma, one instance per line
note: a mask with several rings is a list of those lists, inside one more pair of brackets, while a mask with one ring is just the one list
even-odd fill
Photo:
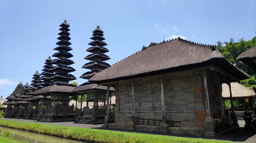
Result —
[[[150, 42], [180, 36], [191, 41], [246, 40], [256, 36], [255, 0], [0, 0], [0, 95], [31, 83], [44, 60], [57, 51], [59, 25], [70, 24], [70, 53], [79, 79], [92, 31], [100, 25], [109, 64]], [[54, 57], [52, 59], [55, 59]]]

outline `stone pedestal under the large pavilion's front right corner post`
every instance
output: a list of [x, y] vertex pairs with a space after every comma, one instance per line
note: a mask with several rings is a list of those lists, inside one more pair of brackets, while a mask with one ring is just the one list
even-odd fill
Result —
[[204, 136], [215, 136], [215, 122], [212, 117], [206, 117], [204, 122]]

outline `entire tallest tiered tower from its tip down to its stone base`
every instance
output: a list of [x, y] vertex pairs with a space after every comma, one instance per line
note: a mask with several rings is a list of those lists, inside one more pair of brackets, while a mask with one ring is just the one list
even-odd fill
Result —
[[59, 40], [56, 45], [58, 47], [54, 48], [57, 50], [57, 53], [54, 53], [52, 56], [57, 57], [58, 59], [54, 59], [50, 62], [50, 64], [55, 64], [52, 68], [49, 68], [49, 72], [54, 72], [55, 74], [48, 77], [49, 81], [53, 81], [53, 84], [47, 87], [43, 87], [39, 90], [36, 90], [34, 95], [42, 95], [42, 96], [51, 96], [51, 100], [53, 101], [53, 107], [47, 107], [44, 112], [44, 115], [41, 115], [41, 118], [38, 121], [41, 122], [67, 122], [74, 121], [75, 115], [73, 114], [73, 108], [69, 106], [69, 97], [73, 95], [72, 90], [76, 88], [76, 86], [69, 84], [69, 81], [75, 80], [76, 77], [70, 72], [75, 71], [73, 67], [69, 65], [74, 64], [72, 60], [69, 58], [73, 57], [70, 50], [73, 50], [69, 47], [71, 43], [69, 40], [70, 25], [65, 20], [60, 25], [60, 35], [57, 39]]

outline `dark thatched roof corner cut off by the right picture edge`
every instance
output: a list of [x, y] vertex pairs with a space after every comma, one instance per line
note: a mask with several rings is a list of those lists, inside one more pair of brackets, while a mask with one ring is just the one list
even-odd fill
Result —
[[244, 51], [237, 57], [237, 60], [249, 66], [256, 73], [256, 63], [253, 62], [253, 60], [255, 59], [256, 59], [256, 46]]

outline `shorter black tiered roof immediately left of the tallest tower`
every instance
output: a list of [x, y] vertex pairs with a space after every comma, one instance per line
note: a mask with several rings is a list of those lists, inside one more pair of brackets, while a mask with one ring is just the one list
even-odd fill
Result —
[[47, 87], [47, 86], [53, 84], [50, 79], [47, 79], [47, 78], [49, 78], [49, 77], [55, 75], [53, 72], [49, 71], [49, 69], [53, 67], [50, 62], [52, 62], [52, 59], [51, 59], [51, 57], [49, 56], [49, 57], [45, 60], [44, 69], [42, 70], [43, 72], [40, 74], [40, 75], [41, 75], [41, 78], [39, 78], [39, 80], [42, 80], [42, 82], [39, 82], [39, 83], [37, 84], [37, 86]]

